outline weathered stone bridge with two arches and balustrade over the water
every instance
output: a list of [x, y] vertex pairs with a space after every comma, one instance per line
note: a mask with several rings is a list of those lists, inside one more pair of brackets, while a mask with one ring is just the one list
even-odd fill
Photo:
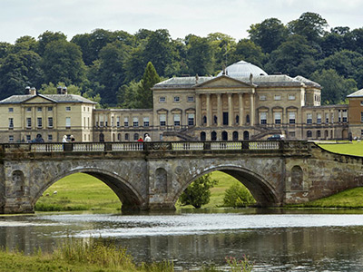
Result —
[[83, 172], [107, 184], [123, 209], [174, 209], [182, 191], [221, 170], [260, 206], [327, 197], [362, 186], [363, 157], [309, 141], [14, 143], [0, 145], [0, 212], [33, 212], [44, 190]]

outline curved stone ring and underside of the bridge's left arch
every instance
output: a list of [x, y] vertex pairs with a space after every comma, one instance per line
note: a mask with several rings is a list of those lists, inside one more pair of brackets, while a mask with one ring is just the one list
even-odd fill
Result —
[[142, 196], [137, 191], [137, 189], [134, 189], [132, 184], [130, 184], [130, 182], [127, 180], [124, 180], [121, 176], [103, 169], [77, 168], [75, 170], [64, 172], [63, 174], [58, 175], [51, 180], [46, 180], [43, 186], [38, 191], [36, 191], [34, 199], [31, 202], [32, 207], [34, 207], [36, 201], [43, 195], [46, 189], [51, 187], [58, 180], [75, 173], [88, 174], [98, 180], [103, 181], [104, 184], [113, 190], [116, 196], [120, 199], [120, 202], [123, 203], [123, 210], [145, 209], [147, 206], [147, 201], [142, 199]]

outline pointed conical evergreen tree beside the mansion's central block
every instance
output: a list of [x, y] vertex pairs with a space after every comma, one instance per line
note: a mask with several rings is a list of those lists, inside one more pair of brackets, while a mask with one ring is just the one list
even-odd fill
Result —
[[138, 109], [152, 109], [152, 86], [160, 83], [160, 77], [156, 73], [152, 63], [146, 65], [145, 73], [142, 76], [142, 82], [135, 96], [135, 107]]

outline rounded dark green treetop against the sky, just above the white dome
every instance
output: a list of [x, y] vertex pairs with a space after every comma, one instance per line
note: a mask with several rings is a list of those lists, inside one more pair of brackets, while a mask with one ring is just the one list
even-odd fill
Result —
[[277, 18], [270, 18], [260, 24], [251, 24], [247, 31], [250, 40], [260, 45], [264, 53], [271, 53], [288, 37], [288, 28]]

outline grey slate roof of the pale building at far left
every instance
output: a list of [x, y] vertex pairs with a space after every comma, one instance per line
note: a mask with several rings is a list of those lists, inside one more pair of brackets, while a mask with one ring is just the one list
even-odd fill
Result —
[[5, 98], [4, 100], [0, 101], [0, 104], [14, 104], [14, 103], [23, 103], [28, 100], [31, 100], [32, 98], [39, 96], [43, 97], [46, 100], [49, 100], [51, 102], [55, 103], [91, 103], [96, 104], [97, 102], [93, 102], [91, 100], [88, 100], [84, 98], [81, 95], [77, 94], [24, 94], [24, 95], [12, 95], [8, 98]]

